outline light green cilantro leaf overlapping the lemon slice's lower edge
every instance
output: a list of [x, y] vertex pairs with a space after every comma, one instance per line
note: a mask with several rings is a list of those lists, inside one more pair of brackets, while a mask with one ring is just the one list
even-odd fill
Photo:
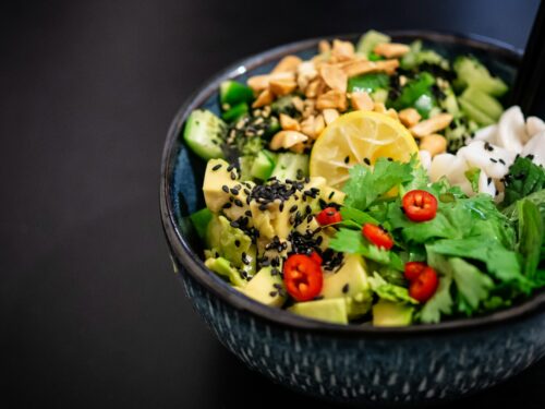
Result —
[[344, 204], [365, 210], [392, 188], [412, 180], [411, 164], [378, 158], [374, 169], [356, 165], [350, 169], [350, 179], [343, 188]]

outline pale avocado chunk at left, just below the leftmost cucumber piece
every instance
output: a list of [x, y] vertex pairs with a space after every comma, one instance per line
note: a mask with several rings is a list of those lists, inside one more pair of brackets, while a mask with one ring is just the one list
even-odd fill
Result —
[[[239, 182], [237, 170], [228, 171], [229, 164], [223, 159], [210, 159], [206, 164], [206, 171], [203, 183], [203, 193], [206, 207], [210, 212], [217, 213], [227, 202], [229, 202], [229, 190]], [[235, 180], [231, 178], [233, 172]]]

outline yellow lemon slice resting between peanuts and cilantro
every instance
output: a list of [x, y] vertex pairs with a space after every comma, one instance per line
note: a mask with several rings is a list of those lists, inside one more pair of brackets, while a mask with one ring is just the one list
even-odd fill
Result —
[[316, 140], [310, 173], [340, 189], [356, 164], [373, 165], [379, 157], [409, 161], [417, 152], [414, 137], [400, 122], [385, 113], [353, 111], [330, 123]]

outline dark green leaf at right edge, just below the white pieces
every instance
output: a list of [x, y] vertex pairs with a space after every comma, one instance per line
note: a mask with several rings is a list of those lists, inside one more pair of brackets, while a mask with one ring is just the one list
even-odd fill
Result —
[[509, 167], [505, 177], [505, 199], [502, 206], [545, 189], [545, 169], [535, 165], [530, 158], [519, 156]]

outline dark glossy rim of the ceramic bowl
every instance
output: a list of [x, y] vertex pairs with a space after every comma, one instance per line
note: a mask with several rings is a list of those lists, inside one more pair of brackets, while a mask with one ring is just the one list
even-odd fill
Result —
[[[522, 56], [522, 50], [506, 43], [481, 35], [460, 35], [437, 31], [384, 32], [393, 38], [401, 38], [405, 40], [421, 38], [432, 43], [464, 44], [481, 51], [492, 52], [513, 65], [517, 65], [520, 62]], [[181, 274], [189, 274], [192, 278], [196, 279], [197, 282], [204, 286], [207, 291], [210, 291], [214, 297], [218, 297], [223, 302], [230, 304], [239, 311], [245, 311], [251, 315], [255, 315], [267, 322], [269, 325], [324, 335], [342, 337], [355, 336], [360, 338], [399, 338], [408, 336], [422, 336], [432, 333], [451, 334], [452, 332], [459, 333], [462, 330], [480, 329], [491, 325], [499, 325], [516, 318], [528, 317], [543, 311], [545, 308], [545, 291], [532, 296], [530, 299], [524, 300], [520, 304], [492, 314], [472, 318], [452, 320], [438, 324], [419, 324], [404, 327], [377, 327], [372, 325], [342, 325], [327, 323], [306, 318], [286, 310], [275, 309], [244, 296], [206, 268], [201, 257], [192, 251], [190, 243], [184, 239], [179, 229], [172, 203], [170, 201], [171, 185], [173, 181], [172, 170], [175, 166], [179, 149], [182, 146], [181, 143], [178, 143], [179, 134], [189, 113], [217, 92], [221, 81], [234, 79], [238, 75], [245, 73], [247, 70], [257, 68], [284, 55], [308, 49], [310, 47], [316, 46], [318, 41], [323, 39], [331, 40], [334, 38], [344, 38], [354, 40], [360, 35], [361, 34], [344, 34], [303, 39], [243, 58], [205, 81], [192, 95], [189, 96], [189, 98], [185, 99], [184, 104], [178, 110], [170, 124], [161, 158], [159, 189], [160, 216], [171, 256], [175, 258], [173, 258], [172, 262], [178, 262], [182, 266], [183, 273]]]

